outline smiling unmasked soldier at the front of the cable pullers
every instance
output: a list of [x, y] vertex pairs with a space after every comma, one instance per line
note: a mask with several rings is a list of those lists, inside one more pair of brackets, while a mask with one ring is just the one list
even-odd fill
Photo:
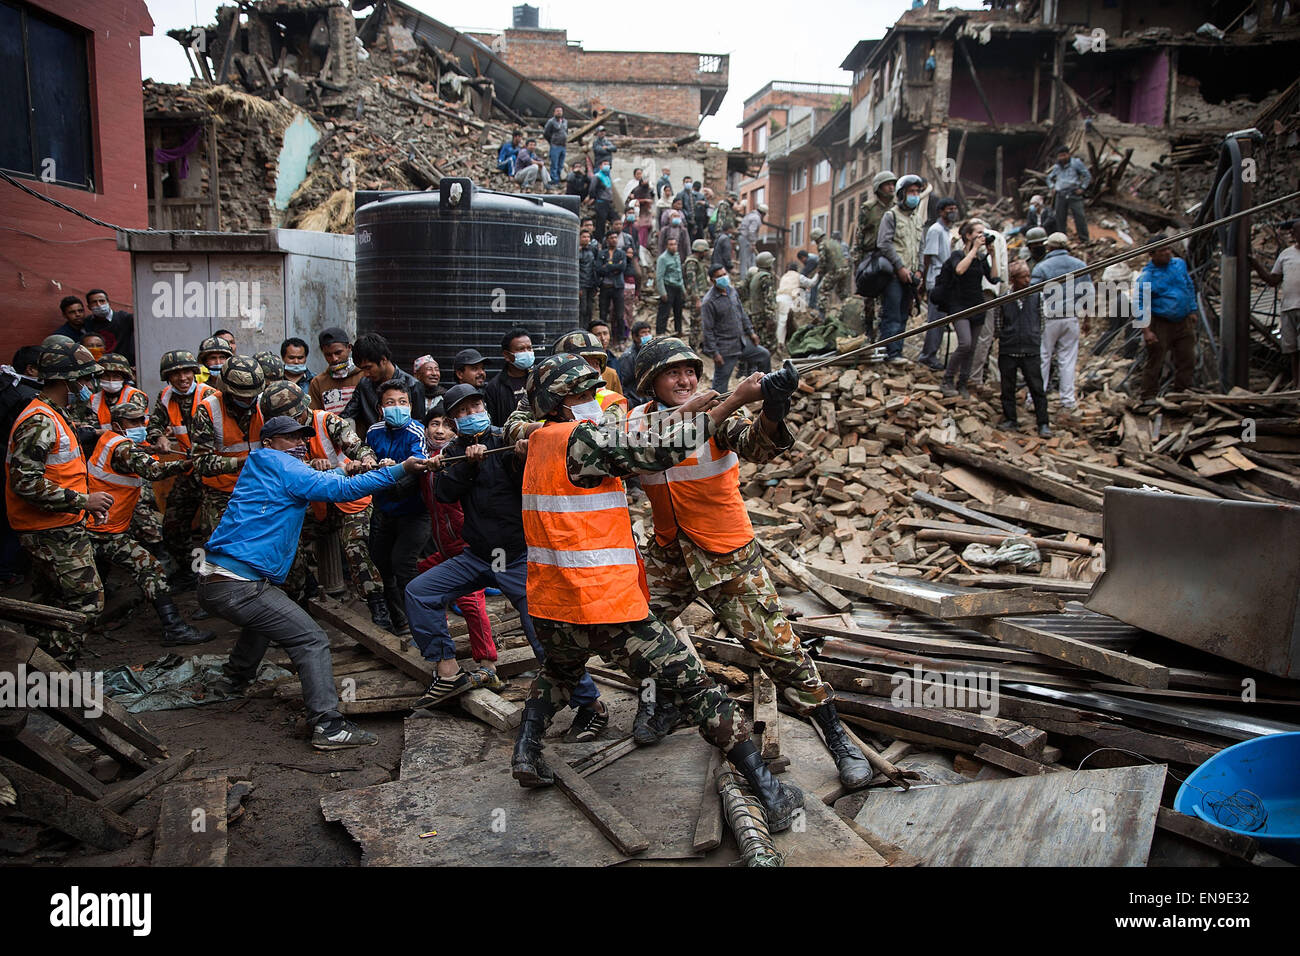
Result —
[[[628, 416], [636, 436], [659, 408], [692, 401], [703, 371], [699, 356], [675, 338], [658, 338], [637, 355], [637, 392], [653, 395]], [[650, 609], [660, 620], [672, 620], [703, 598], [731, 635], [762, 661], [784, 698], [822, 727], [840, 779], [864, 787], [871, 765], [844, 732], [831, 702], [831, 685], [781, 610], [740, 493], [740, 458], [763, 463], [789, 449], [794, 440], [785, 427], [790, 395], [800, 375], [786, 360], [780, 372], [748, 378], [759, 392], [763, 408], [751, 418], [737, 408], [719, 423], [707, 442], [690, 458], [662, 475], [644, 476], [641, 485], [654, 511], [654, 540], [645, 549]], [[744, 388], [744, 386], [742, 386]], [[750, 398], [749, 401], [753, 401]], [[633, 726], [638, 744], [653, 744], [672, 730], [671, 705], [642, 700]]]

